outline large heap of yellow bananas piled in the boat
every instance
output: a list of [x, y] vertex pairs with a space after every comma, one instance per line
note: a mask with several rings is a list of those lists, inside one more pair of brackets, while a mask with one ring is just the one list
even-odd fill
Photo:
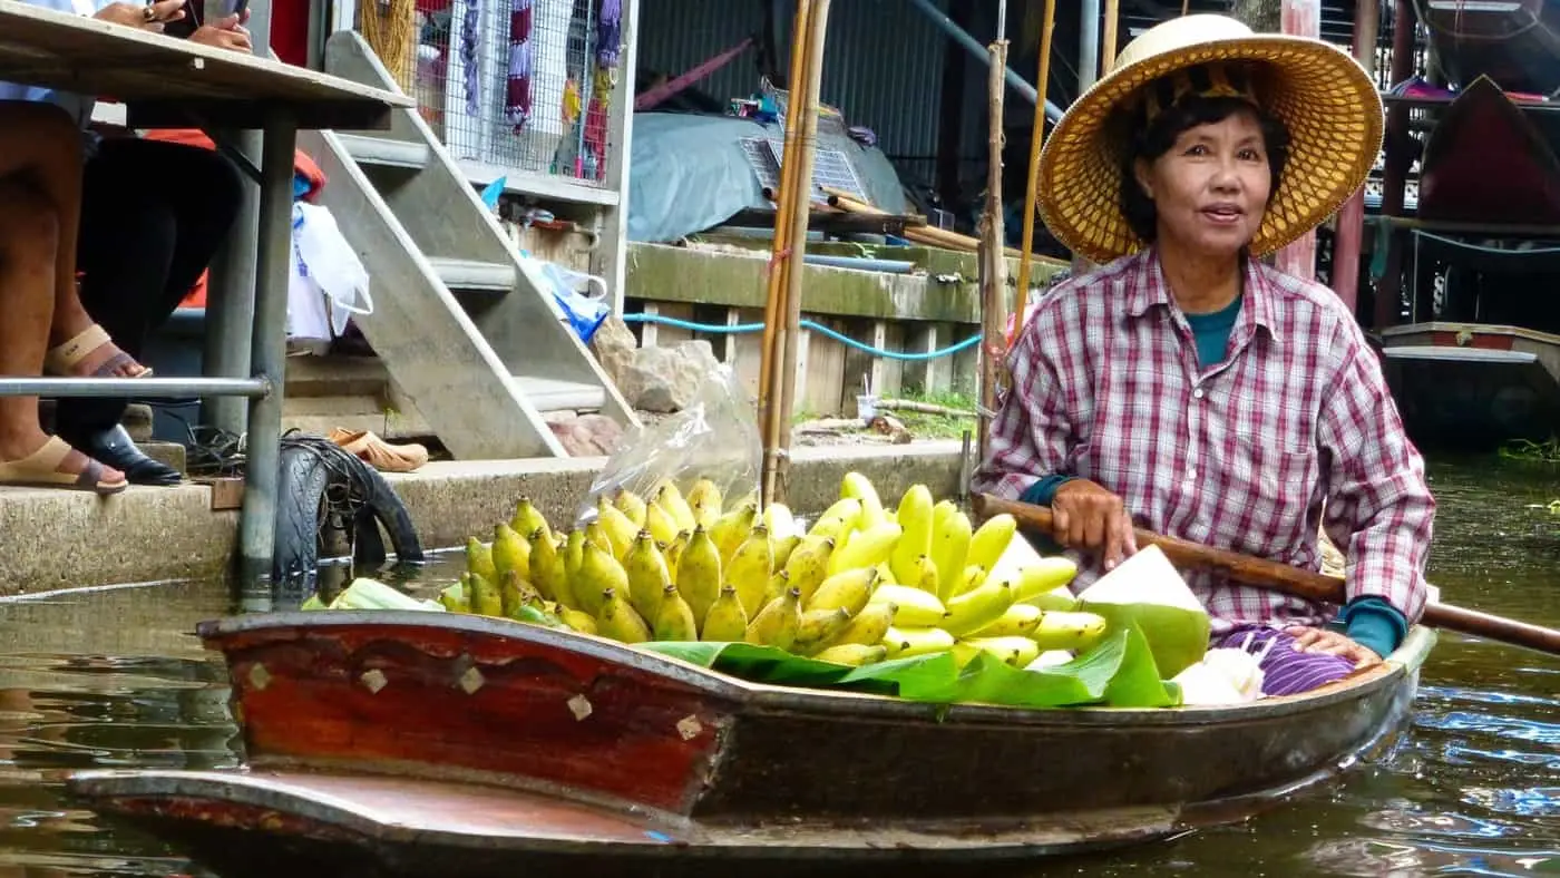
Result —
[[783, 504], [727, 507], [708, 479], [686, 494], [663, 480], [649, 499], [602, 496], [568, 533], [521, 499], [491, 543], [468, 541], [468, 569], [440, 600], [629, 644], [750, 643], [847, 666], [934, 652], [1064, 661], [1106, 622], [1056, 591], [1076, 574], [1067, 558], [991, 577], [1016, 527], [1002, 515], [973, 529], [925, 485], [888, 510], [860, 473], [805, 532]]

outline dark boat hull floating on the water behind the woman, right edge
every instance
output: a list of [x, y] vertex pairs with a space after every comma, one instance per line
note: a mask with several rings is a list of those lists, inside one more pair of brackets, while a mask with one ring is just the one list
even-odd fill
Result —
[[1471, 323], [1382, 337], [1387, 384], [1420, 448], [1491, 451], [1560, 430], [1560, 337]]

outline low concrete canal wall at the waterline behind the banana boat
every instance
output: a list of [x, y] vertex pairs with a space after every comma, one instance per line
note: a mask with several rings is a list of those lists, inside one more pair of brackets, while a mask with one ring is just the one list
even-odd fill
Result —
[[[959, 444], [799, 448], [789, 499], [799, 513], [822, 512], [850, 469], [869, 476], [885, 502], [914, 482], [934, 496], [958, 490]], [[573, 521], [605, 458], [473, 460], [429, 463], [388, 476], [412, 513], [424, 547], [490, 535], [521, 494], [552, 522]], [[212, 512], [204, 485], [131, 488], [114, 497], [76, 491], [0, 488], [0, 596], [126, 582], [222, 577], [237, 547], [236, 512]]]

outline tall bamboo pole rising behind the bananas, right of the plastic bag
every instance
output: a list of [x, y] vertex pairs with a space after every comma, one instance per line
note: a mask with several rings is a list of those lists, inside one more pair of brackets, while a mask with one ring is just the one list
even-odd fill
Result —
[[[797, 176], [796, 211], [791, 215], [791, 240], [797, 246], [807, 243], [807, 220], [813, 206], [813, 162], [817, 158], [817, 101], [824, 80], [824, 37], [828, 31], [828, 0], [814, 0], [811, 16], [807, 23], [807, 89], [803, 92], [800, 134], [797, 137]], [[791, 101], [797, 100], [797, 89], [791, 89]], [[803, 265], [796, 259], [792, 248], [791, 270], [786, 273], [785, 287], [785, 359], [780, 362], [780, 409], [774, 413], [774, 430], [778, 443], [768, 451], [764, 460], [764, 496], [774, 502], [786, 499], [786, 476], [789, 473], [791, 452], [791, 412], [796, 405], [796, 370], [797, 343], [802, 323], [802, 278]]]

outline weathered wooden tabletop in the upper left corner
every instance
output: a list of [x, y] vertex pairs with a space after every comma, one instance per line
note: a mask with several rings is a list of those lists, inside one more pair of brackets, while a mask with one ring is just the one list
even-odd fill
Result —
[[[412, 100], [279, 61], [0, 0], [0, 80], [101, 95], [147, 112], [189, 109], [259, 128], [285, 109], [303, 128], [385, 128]], [[173, 122], [173, 120], [167, 120]]]

